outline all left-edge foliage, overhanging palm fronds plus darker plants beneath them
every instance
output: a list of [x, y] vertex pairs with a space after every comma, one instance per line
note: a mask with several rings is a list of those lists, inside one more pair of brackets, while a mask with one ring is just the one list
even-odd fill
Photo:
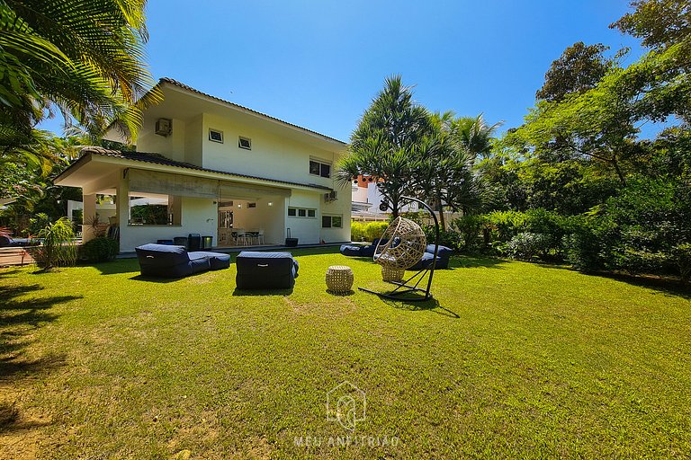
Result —
[[[70, 192], [56, 190], [52, 179], [67, 160], [107, 127], [133, 141], [141, 110], [159, 100], [143, 63], [145, 4], [0, 2], [0, 198], [16, 199], [2, 217], [15, 234], [26, 234], [36, 213], [64, 216]], [[35, 128], [57, 112], [86, 144]]]

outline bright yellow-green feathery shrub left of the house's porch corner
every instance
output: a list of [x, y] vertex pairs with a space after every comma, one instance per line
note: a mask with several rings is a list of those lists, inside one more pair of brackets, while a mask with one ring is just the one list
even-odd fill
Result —
[[72, 241], [75, 233], [67, 217], [62, 217], [41, 229], [38, 236], [43, 243], [27, 249], [40, 268], [49, 270], [53, 267], [75, 264], [77, 249]]

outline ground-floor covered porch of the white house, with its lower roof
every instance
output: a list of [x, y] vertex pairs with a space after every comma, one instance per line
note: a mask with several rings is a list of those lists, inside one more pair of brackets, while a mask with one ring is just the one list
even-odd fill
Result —
[[144, 243], [180, 243], [189, 234], [199, 234], [205, 247], [280, 245], [293, 190], [320, 192], [259, 178], [236, 180], [229, 173], [89, 156], [70, 166], [58, 183], [83, 190], [84, 241], [116, 229], [121, 252]]

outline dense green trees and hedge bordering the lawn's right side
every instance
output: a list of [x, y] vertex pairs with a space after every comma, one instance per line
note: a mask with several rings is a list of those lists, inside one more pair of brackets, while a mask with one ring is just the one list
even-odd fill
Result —
[[554, 61], [525, 123], [477, 165], [496, 211], [453, 221], [463, 250], [688, 279], [691, 12], [678, 0], [633, 7], [612, 27], [648, 53], [622, 66], [625, 49], [579, 42]]

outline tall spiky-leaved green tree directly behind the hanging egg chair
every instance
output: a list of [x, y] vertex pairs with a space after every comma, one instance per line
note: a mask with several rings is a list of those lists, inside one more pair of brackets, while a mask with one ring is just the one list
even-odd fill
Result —
[[410, 192], [417, 173], [417, 146], [432, 132], [428, 112], [412, 98], [412, 89], [402, 84], [400, 75], [388, 77], [363, 113], [349, 154], [337, 168], [342, 183], [359, 174], [372, 176], [393, 217], [399, 216], [400, 197]]

